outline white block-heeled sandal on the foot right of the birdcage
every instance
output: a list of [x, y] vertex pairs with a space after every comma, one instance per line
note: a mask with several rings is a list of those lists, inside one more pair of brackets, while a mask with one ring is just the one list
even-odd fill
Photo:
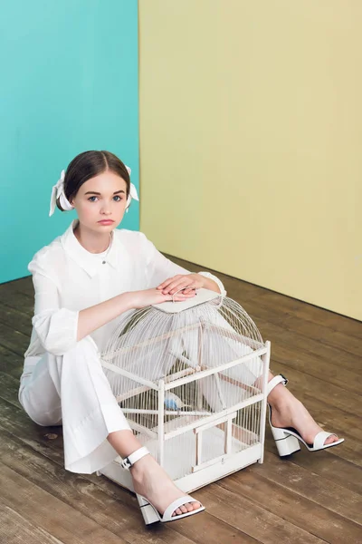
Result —
[[[271, 381], [268, 383], [268, 395], [269, 393], [271, 393], [274, 387], [278, 384], [283, 384], [283, 385], [288, 384], [287, 378], [283, 376], [282, 374], [274, 376], [271, 379]], [[303, 444], [305, 445], [305, 447], [307, 448], [309, 452], [319, 452], [320, 450], [326, 450], [327, 448], [338, 446], [338, 444], [345, 441], [344, 438], [340, 438], [336, 442], [325, 444], [324, 442], [326, 442], [329, 436], [337, 436], [337, 434], [335, 434], [334, 432], [319, 431], [314, 437], [313, 443], [308, 444], [301, 438], [300, 433], [297, 431], [297, 429], [294, 429], [293, 427], [286, 427], [286, 428], [274, 427], [271, 424], [271, 405], [270, 404], [268, 405], [269, 405], [269, 423], [271, 425], [271, 432], [275, 440], [278, 453], [281, 457], [285, 457], [286, 455], [291, 455], [291, 453], [294, 453], [294, 452], [299, 452], [300, 442], [303, 442]]]

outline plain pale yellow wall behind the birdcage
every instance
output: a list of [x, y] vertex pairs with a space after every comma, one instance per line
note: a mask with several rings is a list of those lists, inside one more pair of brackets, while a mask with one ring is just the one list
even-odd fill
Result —
[[139, 0], [141, 230], [362, 319], [362, 2]]

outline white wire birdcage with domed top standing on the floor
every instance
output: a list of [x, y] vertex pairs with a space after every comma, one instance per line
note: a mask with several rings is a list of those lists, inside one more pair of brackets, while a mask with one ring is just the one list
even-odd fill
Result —
[[[131, 429], [181, 490], [262, 462], [270, 342], [231, 298], [199, 289], [135, 310], [101, 360]], [[100, 473], [133, 491], [120, 461]]]

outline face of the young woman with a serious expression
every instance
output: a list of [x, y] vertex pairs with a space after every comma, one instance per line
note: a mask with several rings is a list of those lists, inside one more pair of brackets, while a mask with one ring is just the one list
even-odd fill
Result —
[[126, 202], [127, 183], [110, 170], [83, 183], [71, 200], [81, 226], [98, 233], [118, 227]]

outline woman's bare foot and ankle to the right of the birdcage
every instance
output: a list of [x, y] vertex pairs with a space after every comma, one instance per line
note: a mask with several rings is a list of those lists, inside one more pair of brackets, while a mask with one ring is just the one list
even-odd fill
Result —
[[[307, 444], [312, 444], [318, 432], [323, 431], [303, 404], [284, 385], [278, 384], [274, 387], [268, 395], [268, 403], [271, 404], [271, 424], [274, 427], [293, 427]], [[337, 441], [338, 436], [334, 434], [324, 443], [327, 445]]]

